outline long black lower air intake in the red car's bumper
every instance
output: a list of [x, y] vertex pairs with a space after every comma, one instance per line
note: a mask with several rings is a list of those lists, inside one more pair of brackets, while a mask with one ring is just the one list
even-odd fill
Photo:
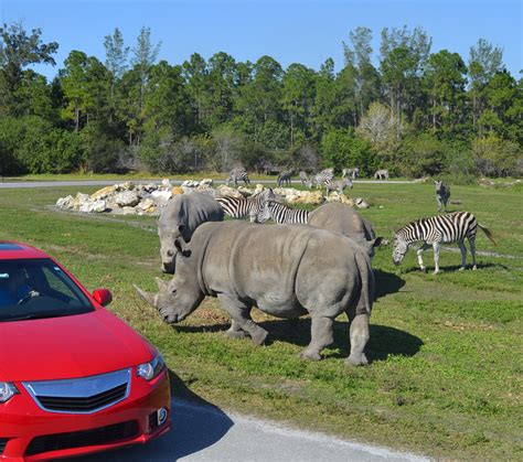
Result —
[[135, 420], [71, 433], [45, 434], [36, 437], [31, 441], [25, 450], [25, 455], [88, 445], [110, 444], [129, 440], [137, 434], [138, 423]]

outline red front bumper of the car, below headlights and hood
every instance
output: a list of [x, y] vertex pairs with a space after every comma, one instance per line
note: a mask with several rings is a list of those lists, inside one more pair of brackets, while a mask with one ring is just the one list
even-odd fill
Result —
[[[167, 369], [151, 382], [134, 374], [126, 399], [87, 415], [42, 410], [22, 385], [15, 385], [20, 395], [0, 412], [0, 461], [41, 461], [146, 443], [170, 429]], [[160, 426], [159, 409], [168, 411]]]

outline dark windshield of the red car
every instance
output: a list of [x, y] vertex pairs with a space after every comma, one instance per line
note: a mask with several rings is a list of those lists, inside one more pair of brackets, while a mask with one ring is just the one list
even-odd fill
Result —
[[50, 258], [0, 260], [0, 322], [89, 311], [84, 292]]

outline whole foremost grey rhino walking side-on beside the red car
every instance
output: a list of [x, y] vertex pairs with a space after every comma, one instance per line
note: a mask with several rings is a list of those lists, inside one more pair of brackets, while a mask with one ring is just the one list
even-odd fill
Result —
[[[372, 245], [372, 244], [370, 244]], [[311, 342], [300, 354], [321, 359], [333, 342], [334, 319], [351, 321], [352, 365], [367, 364], [374, 276], [369, 255], [339, 234], [310, 226], [205, 223], [190, 244], [177, 239], [177, 272], [159, 292], [138, 293], [171, 324], [185, 319], [205, 296], [217, 297], [232, 318], [231, 337], [249, 334], [256, 345], [267, 331], [250, 318], [253, 305], [277, 318], [311, 316]]]

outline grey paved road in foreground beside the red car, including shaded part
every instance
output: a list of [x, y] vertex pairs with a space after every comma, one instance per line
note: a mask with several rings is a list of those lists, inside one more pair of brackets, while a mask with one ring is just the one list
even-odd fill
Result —
[[[267, 420], [173, 401], [173, 429], [149, 444], [77, 458], [76, 462], [399, 462], [428, 461]], [[348, 416], [348, 418], [350, 418]]]

